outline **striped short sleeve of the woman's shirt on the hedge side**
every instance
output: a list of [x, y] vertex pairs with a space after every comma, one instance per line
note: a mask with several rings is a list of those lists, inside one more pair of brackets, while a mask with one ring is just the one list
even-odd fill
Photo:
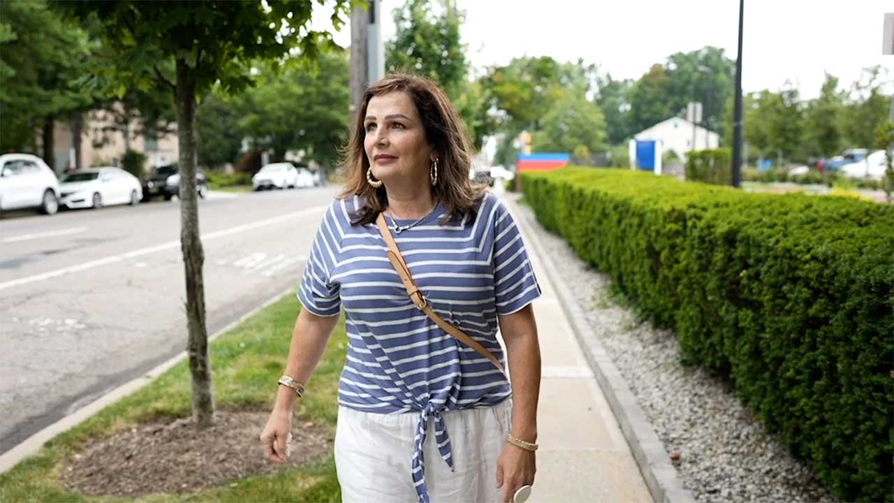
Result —
[[493, 291], [497, 314], [511, 314], [533, 302], [541, 291], [509, 209], [497, 200], [494, 213]]

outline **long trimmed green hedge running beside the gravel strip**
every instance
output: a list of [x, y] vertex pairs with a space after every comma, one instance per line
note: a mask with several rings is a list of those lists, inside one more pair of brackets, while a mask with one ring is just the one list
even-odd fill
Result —
[[894, 501], [894, 207], [580, 167], [522, 189], [839, 498]]

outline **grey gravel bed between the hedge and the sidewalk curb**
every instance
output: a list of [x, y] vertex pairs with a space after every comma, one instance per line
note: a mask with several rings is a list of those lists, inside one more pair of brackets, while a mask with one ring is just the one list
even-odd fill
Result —
[[637, 320], [615, 303], [609, 277], [591, 269], [560, 237], [516, 205], [543, 252], [561, 264], [561, 280], [580, 293], [581, 308], [605, 350], [637, 396], [658, 438], [696, 501], [835, 502], [810, 469], [766, 434], [730, 384], [680, 363], [671, 330]]

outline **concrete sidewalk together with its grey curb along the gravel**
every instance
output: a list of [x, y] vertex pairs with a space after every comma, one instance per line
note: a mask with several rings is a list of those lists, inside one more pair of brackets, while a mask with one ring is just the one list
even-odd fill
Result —
[[[694, 501], [627, 384], [544, 261], [536, 221], [500, 194], [525, 240], [543, 296], [534, 303], [543, 379], [531, 503]], [[569, 303], [569, 305], [563, 305]], [[603, 389], [606, 392], [603, 392]]]

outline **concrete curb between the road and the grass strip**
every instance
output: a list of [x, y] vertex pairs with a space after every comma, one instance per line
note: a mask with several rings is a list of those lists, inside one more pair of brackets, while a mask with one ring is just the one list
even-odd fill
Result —
[[[215, 340], [215, 338], [219, 337], [221, 334], [227, 332], [231, 328], [239, 325], [242, 321], [245, 321], [251, 316], [257, 314], [258, 311], [261, 311], [270, 304], [282, 299], [283, 296], [285, 296], [286, 294], [290, 294], [294, 289], [295, 287], [291, 286], [287, 290], [283, 291], [283, 293], [276, 294], [274, 297], [268, 299], [265, 303], [257, 306], [257, 308], [242, 315], [238, 320], [232, 321], [232, 323], [230, 323], [226, 327], [223, 327], [220, 330], [216, 331], [214, 334], [208, 337], [208, 341], [210, 342]], [[177, 354], [170, 360], [159, 364], [151, 371], [148, 371], [142, 376], [136, 379], [131, 379], [121, 386], [114, 388], [112, 391], [109, 391], [105, 395], [100, 396], [88, 405], [84, 405], [77, 411], [66, 415], [53, 424], [50, 424], [43, 430], [31, 435], [28, 439], [24, 439], [19, 445], [9, 449], [4, 453], [3, 456], [0, 456], [0, 473], [8, 472], [13, 468], [13, 466], [18, 465], [22, 459], [36, 454], [38, 450], [40, 450], [40, 448], [42, 448], [44, 444], [46, 444], [46, 442], [54, 439], [56, 435], [62, 433], [63, 431], [71, 430], [81, 422], [89, 419], [89, 417], [93, 414], [105, 408], [105, 406], [117, 402], [124, 396], [130, 395], [131, 393], [137, 391], [139, 388], [143, 388], [150, 382], [158, 379], [158, 377], [161, 376], [165, 371], [184, 360], [186, 358], [186, 355], [187, 353], [184, 350], [183, 352], [181, 352], [181, 354]]]

